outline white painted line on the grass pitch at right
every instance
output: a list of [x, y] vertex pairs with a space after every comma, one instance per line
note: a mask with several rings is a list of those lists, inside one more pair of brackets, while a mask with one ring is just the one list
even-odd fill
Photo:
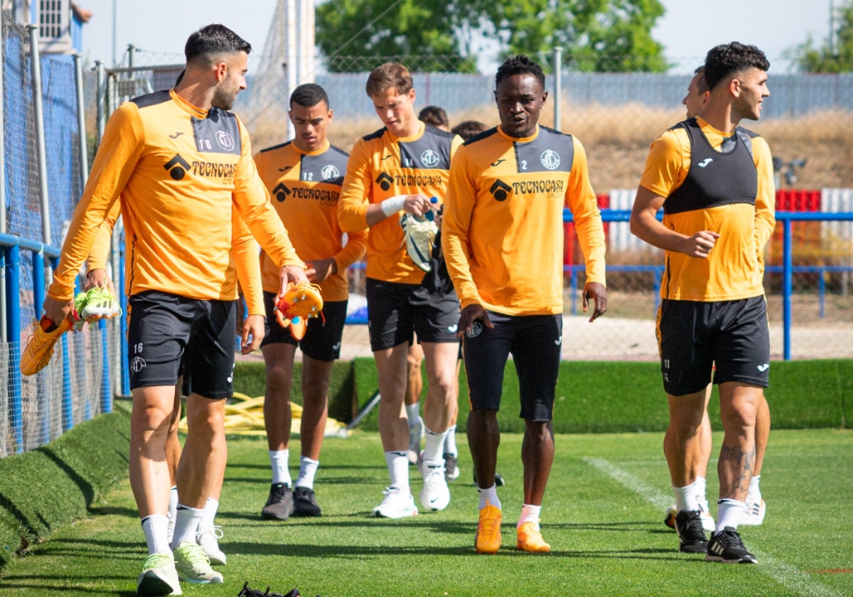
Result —
[[[617, 467], [611, 461], [591, 456], [584, 456], [583, 461], [590, 467], [597, 468], [608, 477], [617, 480], [628, 489], [645, 498], [646, 501], [659, 510], [665, 510], [672, 505], [672, 496], [643, 483], [639, 478]], [[842, 594], [827, 587], [825, 584], [816, 582], [813, 577], [809, 577], [809, 575], [799, 571], [795, 566], [786, 564], [786, 562], [776, 559], [758, 549], [752, 549], [752, 553], [756, 555], [760, 562], [757, 566], [760, 571], [771, 577], [776, 583], [797, 594], [813, 595], [814, 597], [842, 597]]]

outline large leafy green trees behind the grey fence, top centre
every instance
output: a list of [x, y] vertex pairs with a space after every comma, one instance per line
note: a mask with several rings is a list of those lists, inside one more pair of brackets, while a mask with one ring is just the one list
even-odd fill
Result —
[[663, 72], [651, 34], [663, 14], [659, 0], [336, 0], [317, 7], [316, 39], [333, 71], [364, 69], [342, 64], [345, 56], [406, 56], [414, 70], [472, 72], [485, 38], [502, 55], [561, 46], [581, 71]]

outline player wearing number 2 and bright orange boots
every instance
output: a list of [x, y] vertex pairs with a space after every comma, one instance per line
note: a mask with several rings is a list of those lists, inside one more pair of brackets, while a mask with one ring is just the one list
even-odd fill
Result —
[[[577, 138], [538, 125], [548, 98], [545, 75], [525, 55], [505, 61], [495, 77], [501, 125], [474, 137], [453, 159], [444, 206], [442, 245], [461, 301], [471, 412], [468, 446], [478, 479], [480, 554], [501, 547], [501, 501], [495, 467], [503, 370], [510, 354], [519, 376], [524, 504], [516, 525], [519, 550], [545, 553], [539, 528], [554, 461], [551, 417], [560, 368], [563, 314], [563, 209], [572, 211], [587, 280], [583, 310], [590, 322], [607, 308], [605, 238]], [[510, 241], [511, 240], [511, 241]]]

